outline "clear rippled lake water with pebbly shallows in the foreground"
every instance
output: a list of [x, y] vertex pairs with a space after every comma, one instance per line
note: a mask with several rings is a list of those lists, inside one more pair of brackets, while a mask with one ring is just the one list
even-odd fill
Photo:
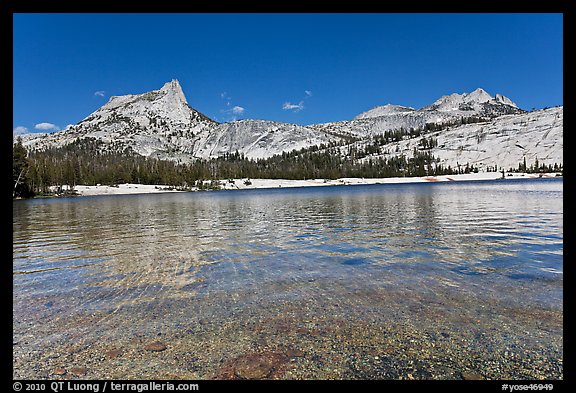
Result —
[[562, 179], [13, 203], [14, 378], [561, 379]]

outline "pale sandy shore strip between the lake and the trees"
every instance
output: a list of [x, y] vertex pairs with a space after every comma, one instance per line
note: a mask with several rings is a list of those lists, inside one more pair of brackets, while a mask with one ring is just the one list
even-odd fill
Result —
[[[511, 175], [511, 176], [510, 176]], [[538, 177], [555, 177], [555, 173], [527, 174], [510, 173], [506, 179], [530, 179]], [[463, 175], [443, 175], [424, 177], [387, 177], [387, 178], [341, 178], [336, 180], [308, 179], [308, 180], [287, 180], [287, 179], [233, 179], [233, 182], [221, 180], [221, 187], [225, 190], [246, 190], [281, 187], [320, 187], [337, 185], [361, 185], [361, 184], [400, 184], [400, 183], [427, 183], [427, 182], [449, 182], [449, 181], [470, 181], [470, 180], [495, 180], [500, 179], [499, 172], [470, 173]], [[79, 195], [122, 195], [122, 194], [153, 194], [165, 192], [182, 192], [166, 185], [149, 184], [119, 184], [112, 186], [76, 186]], [[195, 191], [196, 189], [192, 189]]]

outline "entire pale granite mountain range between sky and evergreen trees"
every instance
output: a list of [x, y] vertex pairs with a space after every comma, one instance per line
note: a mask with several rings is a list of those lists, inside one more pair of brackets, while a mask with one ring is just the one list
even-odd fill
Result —
[[[177, 80], [143, 94], [113, 96], [76, 125], [45, 134], [24, 134], [29, 149], [62, 147], [94, 138], [104, 149], [136, 153], [177, 162], [234, 154], [268, 158], [292, 150], [340, 146], [362, 148], [385, 132], [419, 129], [434, 138], [428, 147], [447, 166], [469, 163], [483, 168], [517, 167], [526, 159], [543, 164], [563, 163], [563, 107], [524, 111], [509, 98], [481, 88], [443, 96], [421, 109], [387, 104], [351, 120], [301, 126], [270, 120], [218, 123], [188, 105]], [[414, 154], [421, 139], [387, 143], [379, 156]]]

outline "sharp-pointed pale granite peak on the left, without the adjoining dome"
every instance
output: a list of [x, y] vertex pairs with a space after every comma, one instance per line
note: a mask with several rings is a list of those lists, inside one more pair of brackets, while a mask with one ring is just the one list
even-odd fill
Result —
[[91, 137], [110, 150], [168, 158], [170, 152], [191, 153], [194, 136], [217, 124], [191, 108], [180, 84], [173, 80], [159, 90], [113, 96], [80, 123], [27, 143], [43, 149]]

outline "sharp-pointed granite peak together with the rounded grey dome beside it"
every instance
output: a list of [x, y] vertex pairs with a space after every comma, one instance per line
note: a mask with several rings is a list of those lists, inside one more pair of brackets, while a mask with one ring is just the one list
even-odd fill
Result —
[[312, 128], [265, 120], [219, 124], [191, 108], [177, 80], [143, 94], [111, 97], [77, 125], [23, 138], [27, 147], [61, 147], [77, 138], [95, 138], [108, 150], [131, 151], [166, 160], [191, 161], [239, 152], [270, 157], [333, 140]]

